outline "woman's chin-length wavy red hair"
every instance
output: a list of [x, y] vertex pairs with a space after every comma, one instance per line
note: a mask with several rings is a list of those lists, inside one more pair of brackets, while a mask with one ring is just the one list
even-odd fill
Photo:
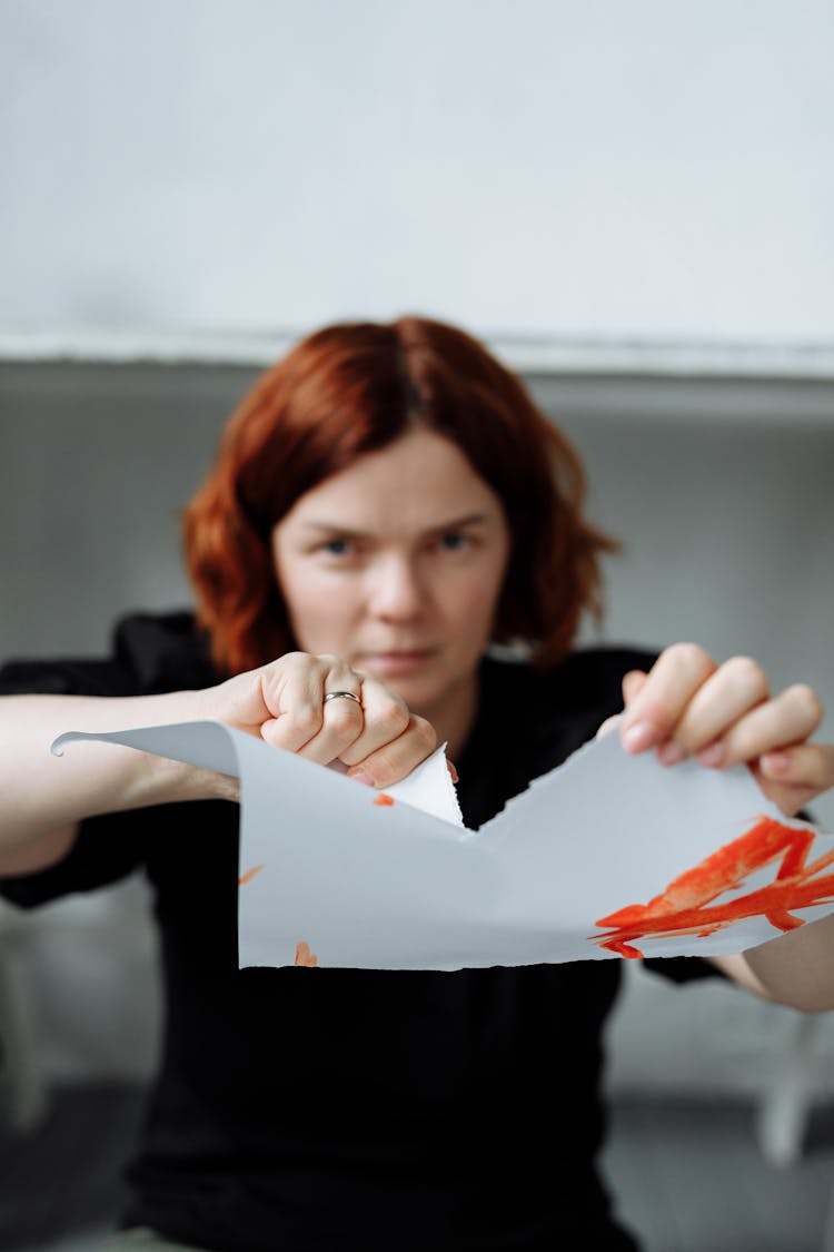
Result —
[[519, 379], [441, 322], [344, 323], [259, 378], [185, 512], [198, 622], [221, 671], [295, 646], [273, 567], [275, 525], [305, 491], [420, 426], [458, 444], [504, 505], [513, 547], [494, 640], [524, 640], [550, 667], [583, 611], [601, 613], [599, 556], [616, 543], [584, 520], [579, 456]]

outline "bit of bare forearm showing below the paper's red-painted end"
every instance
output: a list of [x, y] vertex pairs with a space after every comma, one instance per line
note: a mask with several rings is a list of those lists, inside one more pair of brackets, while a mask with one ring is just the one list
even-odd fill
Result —
[[804, 1013], [834, 1009], [834, 914], [714, 963], [748, 990]]

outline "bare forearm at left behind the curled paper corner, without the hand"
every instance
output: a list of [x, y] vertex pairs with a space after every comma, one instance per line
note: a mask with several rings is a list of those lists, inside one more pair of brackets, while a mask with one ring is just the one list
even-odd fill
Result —
[[[230, 796], [220, 775], [114, 744], [68, 744], [66, 730], [108, 731], [211, 716], [201, 691], [131, 699], [6, 696], [0, 700], [0, 873], [20, 873], [20, 856], [54, 831], [94, 814], [178, 800]], [[59, 840], [60, 841], [60, 840]]]

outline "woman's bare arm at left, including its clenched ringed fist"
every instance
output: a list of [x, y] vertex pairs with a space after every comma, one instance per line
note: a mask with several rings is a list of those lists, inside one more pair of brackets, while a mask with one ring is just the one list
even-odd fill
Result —
[[[328, 692], [355, 700], [325, 702]], [[79, 823], [180, 800], [238, 799], [238, 781], [115, 744], [50, 744], [66, 730], [108, 731], [175, 721], [220, 721], [309, 760], [343, 761], [374, 786], [404, 777], [435, 734], [383, 684], [334, 656], [290, 652], [205, 691], [159, 696], [0, 699], [0, 874], [59, 860]]]

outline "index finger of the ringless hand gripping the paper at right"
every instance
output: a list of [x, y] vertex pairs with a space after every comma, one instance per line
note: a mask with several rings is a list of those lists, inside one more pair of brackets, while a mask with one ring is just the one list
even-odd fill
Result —
[[694, 694], [715, 670], [713, 657], [696, 644], [673, 644], [661, 652], [623, 716], [625, 750], [644, 752], [669, 739]]

